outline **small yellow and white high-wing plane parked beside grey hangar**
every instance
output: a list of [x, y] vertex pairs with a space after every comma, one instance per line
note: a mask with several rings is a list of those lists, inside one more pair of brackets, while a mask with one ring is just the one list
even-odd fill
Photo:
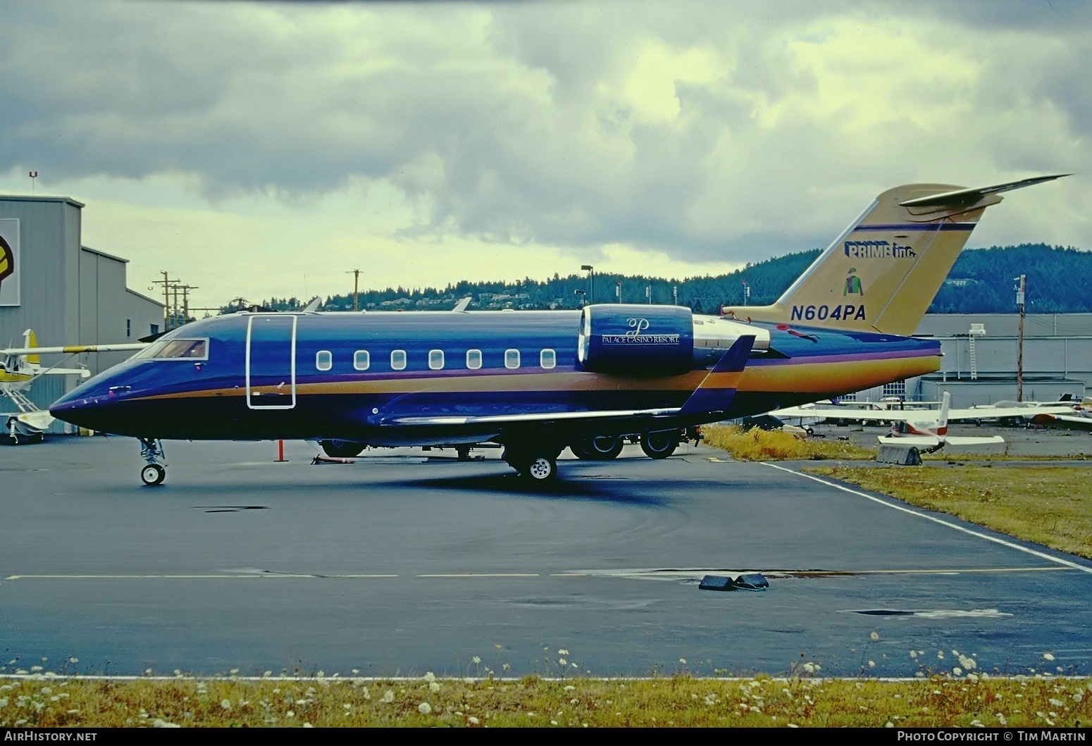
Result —
[[92, 352], [121, 352], [142, 350], [145, 344], [126, 343], [110, 345], [72, 345], [67, 347], [39, 347], [33, 330], [23, 332], [22, 347], [0, 348], [0, 398], [7, 396], [19, 412], [10, 413], [4, 421], [8, 437], [15, 446], [21, 442], [40, 441], [43, 433], [54, 423], [54, 416], [35, 406], [26, 391], [39, 376], [91, 377], [84, 367], [61, 368], [57, 365], [45, 367], [41, 355], [75, 355]]

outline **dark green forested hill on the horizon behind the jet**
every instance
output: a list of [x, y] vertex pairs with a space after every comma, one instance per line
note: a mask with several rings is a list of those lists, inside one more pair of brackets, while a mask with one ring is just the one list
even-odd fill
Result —
[[[594, 288], [586, 274], [548, 280], [527, 277], [513, 283], [459, 282], [444, 288], [388, 287], [361, 291], [358, 306], [375, 310], [442, 310], [461, 298], [473, 298], [471, 308], [578, 308], [585, 297], [595, 303], [677, 303], [698, 312], [715, 313], [721, 305], [771, 304], [819, 254], [819, 249], [776, 257], [748, 264], [731, 274], [665, 280], [643, 275], [595, 275]], [[1049, 247], [1043, 244], [970, 249], [963, 251], [929, 307], [931, 313], [1006, 313], [1016, 310], [1013, 277], [1028, 276], [1028, 311], [1035, 313], [1090, 312], [1092, 251]], [[366, 280], [365, 280], [366, 282]], [[583, 294], [581, 294], [583, 292]], [[261, 304], [278, 310], [306, 305], [297, 298], [271, 298]], [[330, 296], [324, 310], [352, 310], [353, 294]], [[228, 309], [225, 309], [228, 310]]]

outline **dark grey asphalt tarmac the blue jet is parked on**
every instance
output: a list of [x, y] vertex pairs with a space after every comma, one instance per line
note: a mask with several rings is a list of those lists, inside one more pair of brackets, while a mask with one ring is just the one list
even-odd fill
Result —
[[0, 448], [0, 674], [1092, 670], [1092, 563], [793, 466], [165, 446], [155, 488], [132, 439]]

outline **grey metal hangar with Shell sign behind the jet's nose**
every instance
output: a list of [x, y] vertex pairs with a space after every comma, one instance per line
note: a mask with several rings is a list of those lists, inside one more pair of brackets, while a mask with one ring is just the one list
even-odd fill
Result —
[[[136, 342], [158, 333], [164, 306], [126, 286], [128, 260], [83, 246], [83, 204], [70, 197], [0, 196], [0, 347]], [[84, 365], [92, 375], [132, 353], [43, 356], [45, 366]], [[41, 376], [27, 395], [45, 410], [76, 376]], [[0, 411], [16, 411], [0, 398]], [[63, 423], [55, 423], [60, 429]]]

